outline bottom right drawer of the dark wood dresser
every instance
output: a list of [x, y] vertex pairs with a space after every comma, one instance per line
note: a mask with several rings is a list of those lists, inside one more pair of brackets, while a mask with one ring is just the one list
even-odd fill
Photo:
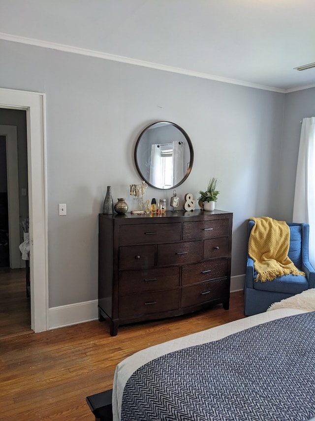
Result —
[[195, 306], [208, 301], [228, 296], [228, 282], [226, 279], [202, 282], [182, 288], [181, 307]]

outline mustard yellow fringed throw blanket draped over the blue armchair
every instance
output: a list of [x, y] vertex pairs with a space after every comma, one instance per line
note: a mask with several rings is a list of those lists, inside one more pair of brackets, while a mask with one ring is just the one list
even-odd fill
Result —
[[288, 258], [290, 229], [284, 221], [272, 218], [250, 218], [255, 222], [249, 238], [248, 253], [254, 261], [255, 279], [261, 282], [272, 281], [277, 276], [305, 275]]

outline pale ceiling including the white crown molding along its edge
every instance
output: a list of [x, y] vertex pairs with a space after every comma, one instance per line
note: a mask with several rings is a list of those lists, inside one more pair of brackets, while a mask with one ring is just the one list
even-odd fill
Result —
[[294, 70], [315, 62], [314, 16], [314, 0], [0, 0], [0, 38], [288, 92], [315, 86]]

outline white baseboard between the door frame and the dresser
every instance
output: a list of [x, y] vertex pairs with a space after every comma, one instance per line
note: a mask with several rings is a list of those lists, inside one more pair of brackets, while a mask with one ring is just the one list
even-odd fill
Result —
[[98, 318], [97, 300], [48, 309], [48, 329], [71, 326]]

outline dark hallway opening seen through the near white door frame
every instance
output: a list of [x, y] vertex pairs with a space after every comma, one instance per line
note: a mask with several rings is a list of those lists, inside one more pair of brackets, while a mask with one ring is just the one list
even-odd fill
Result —
[[31, 331], [27, 163], [26, 111], [0, 108], [0, 337]]

